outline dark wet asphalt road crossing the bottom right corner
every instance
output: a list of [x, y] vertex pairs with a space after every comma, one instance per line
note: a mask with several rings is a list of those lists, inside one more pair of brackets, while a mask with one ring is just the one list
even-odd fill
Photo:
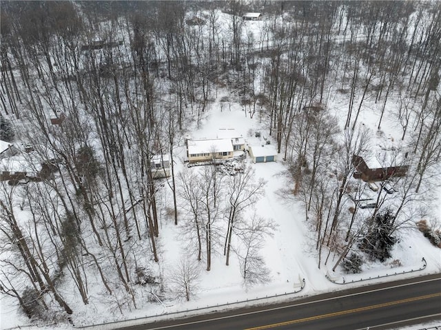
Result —
[[120, 329], [380, 330], [427, 320], [440, 320], [441, 325], [440, 274]]

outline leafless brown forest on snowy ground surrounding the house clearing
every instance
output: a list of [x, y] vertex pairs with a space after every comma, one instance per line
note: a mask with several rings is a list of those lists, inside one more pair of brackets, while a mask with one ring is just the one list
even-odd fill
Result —
[[[242, 19], [256, 10], [260, 37]], [[218, 90], [245, 115], [259, 112], [276, 141], [289, 193], [315, 229], [318, 267], [367, 245], [385, 214], [388, 237], [406, 226], [406, 205], [440, 161], [436, 1], [1, 1], [0, 21], [1, 139], [31, 146], [22, 156], [39, 173], [27, 185], [0, 181], [0, 293], [30, 318], [72, 314], [59, 291], [68, 279], [85, 305], [99, 287], [121, 313], [137, 307], [139, 269], [161, 291], [165, 209], [204, 269], [212, 255], [229, 265], [236, 253], [244, 283], [265, 282], [258, 249], [276, 228], [244, 212], [265, 182], [249, 167], [229, 177], [215, 165], [174, 172], [176, 146]], [[328, 106], [336, 98], [343, 112]], [[378, 194], [373, 217], [360, 221], [346, 193], [357, 189], [353, 154], [374, 157], [360, 121], [367, 102], [378, 105], [378, 134], [392, 116], [407, 141], [379, 161], [411, 171], [395, 209], [382, 209], [390, 197]], [[167, 205], [151, 171], [161, 154], [172, 163]], [[176, 265], [187, 300], [197, 275], [194, 262]]]

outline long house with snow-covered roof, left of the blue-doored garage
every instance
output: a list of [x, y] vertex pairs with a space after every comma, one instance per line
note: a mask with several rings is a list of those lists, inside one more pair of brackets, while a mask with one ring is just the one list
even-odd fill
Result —
[[187, 140], [187, 157], [189, 163], [231, 159], [234, 155], [230, 138], [212, 140]]

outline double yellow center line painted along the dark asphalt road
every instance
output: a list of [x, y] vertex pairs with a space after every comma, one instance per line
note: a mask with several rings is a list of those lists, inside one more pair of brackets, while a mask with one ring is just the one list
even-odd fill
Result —
[[360, 307], [360, 308], [354, 308], [354, 309], [347, 309], [346, 311], [336, 311], [334, 313], [322, 314], [322, 315], [318, 315], [318, 316], [310, 316], [309, 318], [299, 318], [298, 320], [291, 320], [291, 321], [285, 321], [285, 322], [274, 323], [274, 324], [267, 324], [267, 325], [263, 325], [260, 327], [247, 328], [245, 330], [272, 329], [272, 328], [276, 328], [276, 327], [283, 327], [285, 325], [290, 325], [290, 324], [296, 324], [296, 323], [307, 322], [307, 321], [312, 321], [312, 320], [320, 320], [321, 318], [331, 318], [334, 316], [341, 316], [341, 315], [350, 314], [350, 313], [357, 313], [360, 311], [369, 311], [370, 309], [378, 309], [378, 308], [382, 308], [382, 307], [404, 304], [406, 302], [412, 302], [412, 301], [416, 301], [416, 300], [424, 300], [424, 299], [435, 298], [435, 297], [439, 297], [439, 296], [441, 296], [441, 293], [431, 293], [426, 296], [407, 298], [407, 299], [396, 300], [396, 301], [392, 301], [392, 302], [383, 302], [382, 304], [378, 304], [378, 305], [372, 305], [372, 306], [366, 306], [366, 307]]

